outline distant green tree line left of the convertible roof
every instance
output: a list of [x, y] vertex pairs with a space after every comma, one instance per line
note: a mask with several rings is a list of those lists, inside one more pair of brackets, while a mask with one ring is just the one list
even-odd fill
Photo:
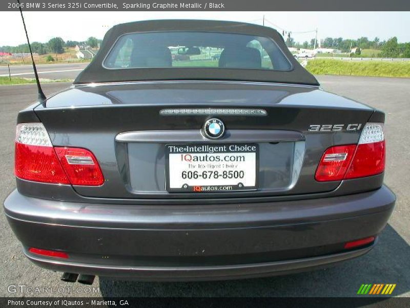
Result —
[[[67, 41], [65, 42], [61, 37], [53, 37], [47, 43], [39, 43], [39, 42], [32, 42], [31, 43], [31, 50], [33, 53], [38, 54], [46, 54], [46, 53], [64, 53], [64, 48], [72, 48], [76, 45], [90, 46], [91, 48], [96, 48], [98, 43], [101, 40], [91, 36], [87, 39], [87, 41], [78, 42], [78, 41]], [[18, 46], [1, 46], [0, 52], [10, 52], [10, 53], [28, 53], [29, 45], [28, 44], [20, 44]]]

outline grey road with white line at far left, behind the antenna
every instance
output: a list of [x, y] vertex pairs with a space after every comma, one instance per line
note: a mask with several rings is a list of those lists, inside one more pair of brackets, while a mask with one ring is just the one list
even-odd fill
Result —
[[[75, 79], [88, 63], [68, 63], [68, 64], [39, 64], [37, 72], [39, 78], [44, 79]], [[32, 65], [11, 65], [12, 76], [21, 78], [34, 78]], [[7, 66], [0, 66], [0, 77], [8, 76]]]

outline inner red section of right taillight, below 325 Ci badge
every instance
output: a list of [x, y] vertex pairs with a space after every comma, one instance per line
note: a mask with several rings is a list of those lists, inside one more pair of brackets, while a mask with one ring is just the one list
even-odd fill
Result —
[[356, 145], [338, 145], [328, 148], [316, 170], [316, 181], [342, 180], [355, 153]]

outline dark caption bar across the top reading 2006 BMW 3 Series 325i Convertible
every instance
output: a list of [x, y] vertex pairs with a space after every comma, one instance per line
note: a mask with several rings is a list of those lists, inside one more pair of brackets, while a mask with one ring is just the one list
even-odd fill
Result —
[[[25, 11], [410, 11], [406, 0], [22, 0]], [[16, 11], [16, 0], [0, 11]]]

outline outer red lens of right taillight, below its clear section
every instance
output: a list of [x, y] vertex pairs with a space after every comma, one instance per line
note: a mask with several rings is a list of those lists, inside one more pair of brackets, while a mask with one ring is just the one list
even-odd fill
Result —
[[384, 141], [359, 144], [345, 179], [381, 174], [384, 171], [386, 147]]

